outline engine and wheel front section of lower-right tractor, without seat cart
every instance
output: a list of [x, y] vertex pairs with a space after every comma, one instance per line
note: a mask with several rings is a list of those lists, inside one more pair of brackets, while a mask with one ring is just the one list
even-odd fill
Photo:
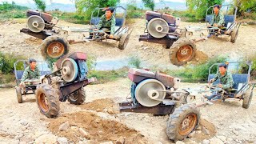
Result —
[[178, 89], [179, 78], [138, 69], [130, 69], [128, 77], [132, 81], [131, 101], [119, 103], [121, 112], [170, 114], [166, 134], [174, 141], [186, 138], [196, 129], [200, 113], [197, 106], [188, 104], [194, 96]]

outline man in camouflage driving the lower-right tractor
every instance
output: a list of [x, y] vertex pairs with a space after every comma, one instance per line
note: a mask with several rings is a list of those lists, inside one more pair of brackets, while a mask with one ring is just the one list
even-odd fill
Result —
[[[209, 83], [215, 82], [217, 79], [220, 80], [220, 83], [217, 85], [217, 87], [222, 88], [223, 90], [230, 89], [234, 85], [234, 81], [232, 78], [232, 74], [226, 70], [226, 63], [222, 63], [218, 65], [218, 73], [214, 76], [214, 78], [210, 79]], [[222, 96], [217, 92], [207, 97], [207, 99], [210, 100], [216, 100], [220, 99]]]

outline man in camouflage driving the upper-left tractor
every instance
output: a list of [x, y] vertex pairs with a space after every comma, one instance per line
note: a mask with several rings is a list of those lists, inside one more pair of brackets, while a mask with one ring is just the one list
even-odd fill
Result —
[[[110, 30], [109, 38], [114, 38], [114, 32], [115, 32], [115, 18], [114, 18], [114, 9], [109, 7], [106, 8], [106, 13], [102, 15], [102, 18], [98, 22], [98, 26], [95, 31], [102, 30], [103, 32], [107, 32]], [[87, 39], [92, 39], [93, 34], [90, 31], [90, 37]]]

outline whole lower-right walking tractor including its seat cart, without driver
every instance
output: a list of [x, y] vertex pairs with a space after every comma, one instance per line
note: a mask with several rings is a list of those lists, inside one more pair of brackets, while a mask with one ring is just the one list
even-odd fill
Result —
[[[214, 78], [219, 63], [210, 67], [209, 80]], [[159, 71], [130, 69], [128, 77], [132, 82], [130, 101], [119, 103], [121, 112], [170, 114], [166, 126], [166, 134], [171, 140], [187, 138], [198, 126], [200, 113], [198, 106], [204, 106], [204, 94], [212, 92], [220, 94], [222, 100], [236, 98], [242, 100], [242, 107], [249, 108], [253, 96], [255, 82], [250, 81], [251, 62], [229, 62], [228, 70], [232, 73], [234, 86], [222, 90], [216, 84], [201, 86], [200, 90], [179, 87], [181, 80]], [[204, 89], [202, 89], [204, 87]], [[208, 90], [206, 89], [208, 88]]]

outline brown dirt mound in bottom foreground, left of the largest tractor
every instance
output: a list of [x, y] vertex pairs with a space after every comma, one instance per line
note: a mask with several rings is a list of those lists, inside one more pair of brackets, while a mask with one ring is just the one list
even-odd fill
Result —
[[[69, 122], [70, 126], [66, 130], [59, 130], [59, 127]], [[50, 131], [59, 137], [68, 138], [71, 142], [78, 142], [82, 138], [79, 129], [82, 128], [89, 134], [86, 139], [91, 143], [116, 142], [118, 138], [125, 138], [126, 143], [146, 142], [144, 136], [138, 131], [128, 128], [122, 123], [106, 120], [90, 112], [77, 112], [73, 114], [64, 114], [62, 117], [51, 119], [48, 125]]]

